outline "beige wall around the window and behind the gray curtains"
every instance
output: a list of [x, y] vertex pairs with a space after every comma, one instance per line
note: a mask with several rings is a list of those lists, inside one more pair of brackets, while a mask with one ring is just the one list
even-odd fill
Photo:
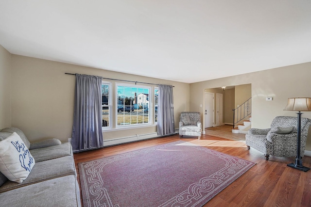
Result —
[[[65, 73], [174, 85], [176, 128], [180, 111], [189, 111], [188, 83], [12, 55], [12, 126], [22, 129], [31, 142], [50, 137], [67, 142], [71, 137], [75, 76]], [[114, 88], [115, 81], [111, 82]], [[113, 139], [153, 132], [156, 132], [155, 126], [114, 129], [103, 134], [104, 139]]]

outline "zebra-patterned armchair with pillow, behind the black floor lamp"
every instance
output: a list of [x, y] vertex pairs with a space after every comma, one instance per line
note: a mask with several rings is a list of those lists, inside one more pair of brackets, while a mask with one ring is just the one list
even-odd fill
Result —
[[[301, 158], [304, 156], [308, 130], [311, 119], [301, 118]], [[250, 128], [245, 135], [247, 149], [257, 149], [264, 154], [266, 160], [269, 156], [296, 157], [297, 149], [297, 117], [276, 116], [270, 128]]]

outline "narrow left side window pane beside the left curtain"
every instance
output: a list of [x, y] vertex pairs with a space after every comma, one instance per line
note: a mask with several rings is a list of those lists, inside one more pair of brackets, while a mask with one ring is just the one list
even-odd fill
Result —
[[111, 100], [111, 83], [102, 82], [102, 127], [103, 129], [111, 128], [111, 110], [112, 110], [112, 100]]

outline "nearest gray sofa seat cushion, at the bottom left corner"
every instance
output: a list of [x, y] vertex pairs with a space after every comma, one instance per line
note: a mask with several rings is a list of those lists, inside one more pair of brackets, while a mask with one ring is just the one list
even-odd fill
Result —
[[0, 193], [3, 207], [81, 207], [76, 176], [68, 175]]

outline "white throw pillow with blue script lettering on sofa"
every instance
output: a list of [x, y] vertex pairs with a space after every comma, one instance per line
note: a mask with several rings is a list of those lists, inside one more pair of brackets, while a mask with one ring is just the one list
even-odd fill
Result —
[[23, 182], [34, 165], [35, 159], [16, 132], [0, 142], [0, 171], [9, 180]]

